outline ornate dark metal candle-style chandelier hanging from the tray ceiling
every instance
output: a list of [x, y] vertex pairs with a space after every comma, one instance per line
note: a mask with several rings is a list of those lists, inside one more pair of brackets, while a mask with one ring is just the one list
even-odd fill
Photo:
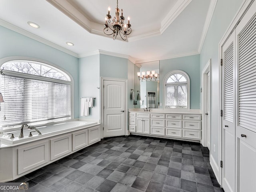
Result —
[[121, 9], [121, 16], [119, 16], [120, 9], [118, 8], [118, 0], [116, 6], [116, 16], [110, 21], [110, 7], [108, 7], [108, 14], [105, 17], [105, 28], [103, 30], [106, 35], [113, 35], [113, 39], [116, 39], [118, 33], [120, 34], [122, 40], [126, 40], [126, 35], [129, 35], [132, 32], [130, 17], [128, 17], [128, 24], [124, 23], [123, 10]]

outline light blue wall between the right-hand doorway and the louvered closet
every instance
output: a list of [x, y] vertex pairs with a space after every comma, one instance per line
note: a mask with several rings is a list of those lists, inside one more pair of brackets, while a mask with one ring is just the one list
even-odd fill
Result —
[[[208, 60], [212, 59], [212, 66], [211, 66], [211, 149], [213, 149], [213, 145], [216, 145], [215, 152], [211, 150], [211, 154], [218, 164], [219, 160], [219, 144], [220, 140], [218, 140], [218, 130], [219, 130], [219, 58], [218, 58], [218, 44], [228, 26], [230, 25], [232, 19], [234, 18], [238, 8], [242, 4], [242, 0], [218, 0], [216, 4], [216, 8], [214, 10], [214, 15], [212, 17], [204, 45], [202, 47], [202, 51], [200, 54], [200, 76], [202, 76], [202, 70], [206, 66]], [[200, 78], [201, 80], [201, 78]], [[201, 83], [201, 82], [200, 82]], [[200, 94], [200, 97], [202, 95]], [[202, 99], [201, 99], [202, 100]]]

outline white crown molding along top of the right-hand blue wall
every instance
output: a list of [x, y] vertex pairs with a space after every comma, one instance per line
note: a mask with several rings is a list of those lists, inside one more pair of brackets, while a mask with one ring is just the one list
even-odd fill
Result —
[[204, 28], [203, 28], [202, 35], [201, 35], [200, 42], [199, 42], [199, 46], [198, 46], [198, 52], [199, 53], [201, 53], [202, 47], [204, 45], [204, 40], [206, 38], [206, 34], [208, 32], [208, 29], [209, 29], [209, 26], [210, 26], [210, 23], [211, 23], [212, 16], [214, 14], [214, 10], [215, 10], [217, 1], [218, 0], [211, 0], [210, 1], [210, 6], [209, 6], [209, 9], [208, 9], [208, 12], [207, 12], [206, 20], [205, 20], [205, 23], [204, 23]]

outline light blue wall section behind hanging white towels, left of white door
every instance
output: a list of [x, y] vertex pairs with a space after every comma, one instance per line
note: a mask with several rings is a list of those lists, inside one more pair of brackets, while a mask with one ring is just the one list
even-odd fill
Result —
[[[79, 118], [100, 120], [100, 55], [79, 59]], [[80, 116], [82, 97], [95, 97], [89, 116]]]

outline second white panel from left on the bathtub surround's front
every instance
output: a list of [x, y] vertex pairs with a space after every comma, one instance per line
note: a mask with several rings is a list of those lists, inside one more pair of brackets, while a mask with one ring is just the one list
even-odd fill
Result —
[[51, 160], [71, 152], [71, 134], [50, 140]]

